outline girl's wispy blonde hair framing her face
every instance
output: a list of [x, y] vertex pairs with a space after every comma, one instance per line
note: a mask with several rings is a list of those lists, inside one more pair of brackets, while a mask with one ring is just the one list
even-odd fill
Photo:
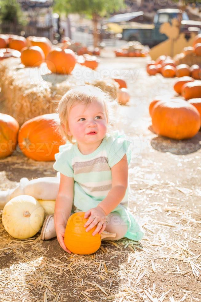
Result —
[[115, 112], [119, 106], [117, 100], [112, 100], [107, 92], [102, 91], [98, 87], [92, 85], [81, 85], [66, 92], [58, 104], [56, 112], [59, 114], [61, 125], [57, 130], [60, 132], [61, 136], [72, 144], [75, 144], [76, 141], [73, 140], [73, 137], [69, 136], [64, 130], [68, 127], [69, 112], [71, 107], [79, 103], [83, 103], [87, 106], [93, 101], [100, 100], [104, 103], [107, 118], [107, 133], [111, 133], [115, 126]]

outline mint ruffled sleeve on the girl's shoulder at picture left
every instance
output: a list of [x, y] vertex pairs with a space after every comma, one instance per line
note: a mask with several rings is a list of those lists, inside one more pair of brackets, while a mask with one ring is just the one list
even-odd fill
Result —
[[67, 142], [59, 147], [59, 153], [54, 156], [56, 161], [53, 168], [68, 177], [73, 177], [72, 147], [73, 144]]

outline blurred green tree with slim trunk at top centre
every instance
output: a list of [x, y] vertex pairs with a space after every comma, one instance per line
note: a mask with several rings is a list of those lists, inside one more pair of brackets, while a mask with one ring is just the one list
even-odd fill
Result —
[[55, 0], [55, 10], [58, 12], [86, 14], [93, 20], [94, 47], [97, 46], [97, 24], [100, 17], [118, 11], [124, 6], [124, 0]]

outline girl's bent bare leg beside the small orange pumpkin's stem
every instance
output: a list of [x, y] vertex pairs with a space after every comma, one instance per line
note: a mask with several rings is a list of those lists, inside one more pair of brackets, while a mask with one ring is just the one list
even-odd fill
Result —
[[117, 212], [113, 212], [107, 216], [105, 231], [109, 233], [116, 233], [116, 237], [107, 237], [102, 239], [102, 241], [119, 240], [123, 238], [126, 232], [128, 231], [128, 224], [123, 221], [123, 219]]

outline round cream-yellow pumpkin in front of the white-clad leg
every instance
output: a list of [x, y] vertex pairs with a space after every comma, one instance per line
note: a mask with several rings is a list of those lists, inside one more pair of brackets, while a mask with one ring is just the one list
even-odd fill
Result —
[[26, 239], [41, 228], [45, 213], [40, 203], [30, 195], [12, 198], [3, 208], [2, 222], [5, 230], [14, 238]]

